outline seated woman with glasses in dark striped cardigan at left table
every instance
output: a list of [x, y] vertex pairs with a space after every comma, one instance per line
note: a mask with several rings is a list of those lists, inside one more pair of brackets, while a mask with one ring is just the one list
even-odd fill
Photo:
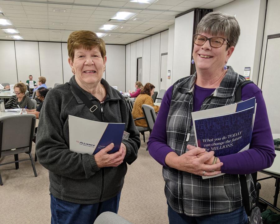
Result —
[[18, 108], [26, 108], [26, 109], [32, 109], [32, 102], [29, 96], [25, 95], [26, 92], [26, 84], [19, 82], [16, 83], [14, 86], [14, 93], [16, 95], [13, 95], [8, 102], [5, 104], [6, 109], [15, 109]]

